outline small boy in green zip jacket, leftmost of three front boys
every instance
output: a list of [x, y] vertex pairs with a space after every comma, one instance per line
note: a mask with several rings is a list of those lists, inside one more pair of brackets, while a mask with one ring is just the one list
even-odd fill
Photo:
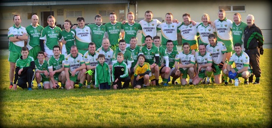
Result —
[[99, 85], [99, 89], [110, 89], [110, 67], [105, 63], [105, 55], [98, 55], [98, 64], [95, 67], [95, 86]]

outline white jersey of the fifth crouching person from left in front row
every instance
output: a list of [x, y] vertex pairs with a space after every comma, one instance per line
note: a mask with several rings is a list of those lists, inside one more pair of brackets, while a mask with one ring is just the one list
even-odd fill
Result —
[[84, 61], [86, 65], [96, 66], [98, 60], [99, 52], [95, 51], [93, 55], [89, 52], [89, 50], [83, 55]]

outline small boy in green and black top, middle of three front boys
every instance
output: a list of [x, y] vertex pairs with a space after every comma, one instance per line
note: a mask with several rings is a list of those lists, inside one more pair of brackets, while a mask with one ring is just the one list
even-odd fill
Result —
[[[117, 63], [112, 66], [112, 82], [113, 89], [124, 89], [130, 85], [131, 78], [129, 77], [129, 70], [127, 64], [123, 61], [124, 54], [119, 52], [117, 54]], [[125, 82], [122, 86], [122, 82]]]

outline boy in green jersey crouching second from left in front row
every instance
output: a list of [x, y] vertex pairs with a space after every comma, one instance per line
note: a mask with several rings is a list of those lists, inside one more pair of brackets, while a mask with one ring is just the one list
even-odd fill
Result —
[[48, 64], [45, 60], [44, 51], [39, 51], [37, 58], [38, 59], [35, 60], [35, 76], [38, 88], [42, 89], [41, 82], [43, 83], [44, 88], [50, 88]]

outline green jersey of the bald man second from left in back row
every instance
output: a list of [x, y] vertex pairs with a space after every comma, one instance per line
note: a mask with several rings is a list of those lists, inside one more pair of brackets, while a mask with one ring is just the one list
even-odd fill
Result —
[[27, 48], [28, 50], [32, 49], [35, 46], [40, 45], [40, 36], [43, 31], [44, 27], [41, 25], [38, 25], [37, 27], [34, 27], [31, 25], [26, 27], [26, 31], [28, 33], [28, 40], [27, 40]]

